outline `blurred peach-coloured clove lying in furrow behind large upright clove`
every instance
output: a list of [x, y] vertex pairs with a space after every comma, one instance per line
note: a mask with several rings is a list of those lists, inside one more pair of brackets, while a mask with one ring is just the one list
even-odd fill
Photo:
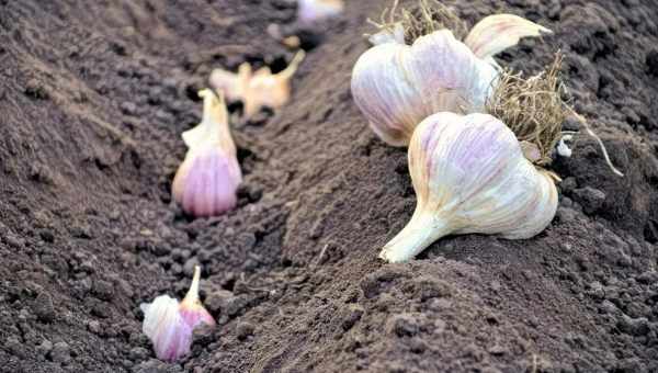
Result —
[[242, 101], [245, 116], [251, 117], [263, 108], [279, 109], [291, 99], [291, 79], [304, 59], [304, 50], [297, 52], [290, 65], [277, 74], [269, 67], [256, 72], [248, 63], [240, 65], [238, 74], [215, 69], [208, 79], [218, 92], [224, 92], [229, 101]]

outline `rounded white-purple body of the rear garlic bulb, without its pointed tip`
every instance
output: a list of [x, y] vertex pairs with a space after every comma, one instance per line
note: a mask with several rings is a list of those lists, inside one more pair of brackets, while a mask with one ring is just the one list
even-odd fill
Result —
[[481, 112], [497, 69], [477, 58], [452, 32], [441, 30], [411, 45], [383, 43], [366, 50], [352, 71], [352, 97], [375, 133], [406, 146], [413, 128], [441, 111]]

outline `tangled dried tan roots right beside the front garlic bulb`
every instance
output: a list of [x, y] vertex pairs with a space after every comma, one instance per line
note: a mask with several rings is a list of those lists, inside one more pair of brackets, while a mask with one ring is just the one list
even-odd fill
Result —
[[519, 142], [537, 147], [540, 166], [551, 163], [551, 151], [561, 138], [561, 125], [569, 114], [563, 99], [567, 95], [560, 79], [563, 56], [557, 54], [544, 71], [527, 79], [503, 70], [486, 110], [506, 123]]

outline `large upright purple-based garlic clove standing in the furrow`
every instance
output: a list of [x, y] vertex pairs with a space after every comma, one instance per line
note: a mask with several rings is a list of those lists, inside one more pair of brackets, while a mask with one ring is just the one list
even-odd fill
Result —
[[189, 150], [173, 179], [172, 194], [186, 213], [212, 216], [235, 207], [242, 172], [222, 93], [203, 90], [198, 95], [203, 118], [182, 135]]

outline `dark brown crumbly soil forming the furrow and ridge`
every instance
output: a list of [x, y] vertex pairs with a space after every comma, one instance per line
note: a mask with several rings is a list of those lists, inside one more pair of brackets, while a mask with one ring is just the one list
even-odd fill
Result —
[[[541, 235], [378, 250], [415, 206], [404, 149], [367, 128], [350, 74], [388, 1], [299, 31], [294, 1], [0, 1], [0, 371], [658, 372], [655, 0], [446, 1], [474, 24], [512, 12], [555, 31], [499, 56], [526, 74], [565, 54], [576, 136]], [[232, 104], [239, 207], [191, 218], [170, 184], [216, 67], [285, 67], [292, 102]], [[575, 121], [567, 128], [578, 129]], [[155, 359], [139, 304], [203, 267], [218, 321]]]

